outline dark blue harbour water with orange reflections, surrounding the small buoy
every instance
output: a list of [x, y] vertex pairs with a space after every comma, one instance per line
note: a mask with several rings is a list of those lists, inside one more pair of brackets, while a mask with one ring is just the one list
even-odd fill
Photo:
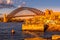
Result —
[[[11, 34], [11, 30], [15, 30], [15, 34]], [[40, 31], [22, 31], [22, 23], [0, 22], [0, 40], [23, 40], [25, 38], [42, 37], [51, 39], [54, 34], [60, 35], [60, 32], [40, 32]]]

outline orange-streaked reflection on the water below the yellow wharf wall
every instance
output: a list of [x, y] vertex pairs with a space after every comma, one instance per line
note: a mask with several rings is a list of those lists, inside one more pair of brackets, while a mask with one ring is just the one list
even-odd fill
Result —
[[43, 32], [38, 31], [22, 31], [23, 38], [26, 40], [40, 39], [43, 36]]

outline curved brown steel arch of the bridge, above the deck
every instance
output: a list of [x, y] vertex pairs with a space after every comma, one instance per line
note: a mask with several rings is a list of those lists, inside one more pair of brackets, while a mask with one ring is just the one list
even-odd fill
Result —
[[14, 17], [14, 15], [16, 15], [18, 12], [23, 11], [23, 10], [26, 10], [26, 9], [29, 10], [29, 11], [32, 11], [36, 15], [44, 14], [44, 12], [42, 12], [42, 11], [36, 9], [36, 8], [20, 7], [20, 8], [17, 8], [15, 10], [13, 10], [9, 15], [7, 15], [7, 17]]

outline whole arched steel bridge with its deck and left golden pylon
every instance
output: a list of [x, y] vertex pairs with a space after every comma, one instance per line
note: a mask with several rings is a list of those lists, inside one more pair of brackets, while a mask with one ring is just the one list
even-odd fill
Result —
[[[35, 15], [19, 15], [19, 16], [15, 16], [17, 13], [23, 11], [23, 10], [28, 10], [33, 12]], [[15, 18], [15, 17], [31, 17], [31, 16], [37, 16], [37, 15], [44, 15], [44, 12], [36, 9], [36, 8], [30, 8], [30, 7], [20, 7], [17, 8], [15, 10], [13, 10], [11, 13], [9, 13], [7, 16], [4, 15], [4, 21], [9, 21], [11, 18]]]

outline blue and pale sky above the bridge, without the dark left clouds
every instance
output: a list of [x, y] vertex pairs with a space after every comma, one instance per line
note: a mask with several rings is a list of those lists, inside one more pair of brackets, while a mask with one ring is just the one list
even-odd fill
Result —
[[[60, 11], [60, 0], [12, 0], [13, 5], [16, 7], [26, 6], [37, 8], [39, 10], [52, 9]], [[0, 13], [11, 11], [12, 9], [0, 9]]]

